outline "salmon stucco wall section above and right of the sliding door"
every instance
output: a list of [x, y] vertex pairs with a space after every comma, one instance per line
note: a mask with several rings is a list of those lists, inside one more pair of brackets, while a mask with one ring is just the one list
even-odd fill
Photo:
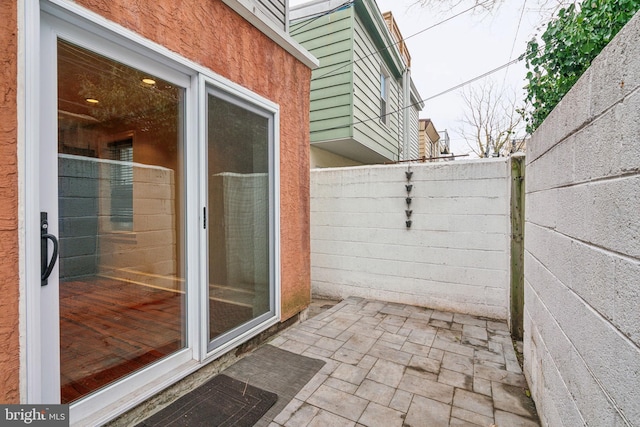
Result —
[[220, 0], [77, 3], [280, 106], [282, 320], [304, 309], [311, 299], [311, 70]]

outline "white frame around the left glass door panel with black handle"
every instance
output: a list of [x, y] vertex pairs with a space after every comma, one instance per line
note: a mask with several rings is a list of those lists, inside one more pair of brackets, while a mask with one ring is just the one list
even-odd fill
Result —
[[[56, 263], [49, 284], [44, 287], [40, 286], [39, 268], [34, 268], [40, 265], [40, 211], [48, 210], [50, 232], [58, 236], [56, 40], [60, 37], [135, 68], [149, 70], [154, 75], [185, 89], [182, 148], [186, 193], [183, 221], [187, 254], [198, 252], [200, 233], [197, 210], [186, 209], [186, 206], [198, 203], [196, 165], [199, 145], [195, 123], [199, 79], [194, 70], [167, 61], [164, 56], [153, 55], [153, 52], [141, 49], [135, 41], [122, 43], [117, 34], [109, 33], [101, 27], [96, 27], [96, 32], [87, 31], [87, 22], [82, 16], [69, 14], [69, 18], [65, 16], [64, 9], [51, 7], [48, 3], [43, 3], [43, 10], [34, 6], [37, 2], [26, 3], [29, 5], [25, 8], [26, 27], [31, 28], [33, 33], [30, 37], [25, 37], [25, 44], [29, 47], [25, 56], [25, 76], [31, 78], [25, 78], [23, 82], [24, 111], [34, 114], [25, 114], [22, 123], [25, 132], [24, 183], [28, 189], [24, 192], [26, 267], [23, 276], [23, 313], [26, 314], [26, 334], [25, 350], [22, 353], [25, 363], [21, 364], [21, 367], [22, 378], [26, 377], [26, 385], [22, 388], [22, 400], [28, 403], [59, 403], [58, 265]], [[105, 37], [105, 34], [110, 34], [110, 37]], [[141, 54], [141, 51], [146, 55]], [[165, 62], [169, 62], [171, 66]], [[43, 151], [43, 147], [46, 152]], [[188, 317], [185, 319], [186, 348], [130, 375], [125, 381], [114, 383], [72, 403], [72, 423], [88, 417], [91, 417], [92, 423], [93, 420], [100, 423], [101, 417], [108, 419], [113, 416], [114, 408], [117, 408], [117, 412], [124, 412], [199, 366], [201, 322], [197, 305], [198, 291], [195, 286], [199, 283], [198, 260], [194, 257], [193, 261], [188, 262], [189, 258], [185, 256], [184, 266], [189, 290], [186, 301]], [[133, 390], [137, 391], [137, 399], [123, 399]]]

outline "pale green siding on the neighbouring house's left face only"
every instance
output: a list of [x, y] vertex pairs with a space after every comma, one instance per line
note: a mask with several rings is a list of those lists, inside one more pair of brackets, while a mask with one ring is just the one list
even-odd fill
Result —
[[352, 136], [354, 8], [291, 25], [291, 35], [320, 61], [311, 80], [311, 142]]

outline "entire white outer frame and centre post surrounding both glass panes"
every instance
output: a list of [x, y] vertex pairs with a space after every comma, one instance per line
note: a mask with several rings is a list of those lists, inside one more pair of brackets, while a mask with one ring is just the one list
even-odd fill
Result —
[[[182, 159], [185, 189], [185, 256], [186, 281], [190, 289], [187, 293], [187, 347], [175, 354], [130, 376], [127, 382], [116, 383], [71, 404], [72, 423], [99, 425], [132, 409], [169, 385], [200, 369], [204, 364], [232, 350], [239, 343], [255, 336], [280, 321], [280, 129], [279, 106], [238, 84], [218, 76], [213, 71], [190, 61], [164, 46], [158, 45], [137, 33], [127, 30], [104, 17], [67, 0], [41, 0], [40, 2], [19, 2], [20, 42], [19, 53], [19, 112], [18, 112], [18, 157], [20, 161], [19, 200], [24, 212], [20, 218], [21, 261], [21, 401], [41, 403], [42, 331], [39, 326], [38, 307], [45, 303], [40, 300], [39, 271], [39, 164], [38, 147], [40, 126], [46, 117], [41, 117], [40, 104], [43, 89], [41, 76], [41, 31], [53, 31], [55, 38], [60, 35], [65, 40], [76, 43], [98, 54], [114, 58], [142, 70], [149, 70], [157, 63], [161, 69], [151, 68], [155, 75], [167, 81], [179, 81], [185, 87], [184, 142]], [[46, 34], [45, 34], [46, 36]], [[54, 43], [55, 44], [55, 43]], [[180, 77], [182, 76], [182, 77]], [[207, 311], [203, 297], [208, 286], [204, 286], [207, 264], [206, 232], [203, 228], [203, 208], [206, 207], [204, 186], [200, 185], [200, 175], [205, 169], [203, 125], [207, 85], [219, 88], [248, 103], [267, 109], [273, 113], [273, 213], [270, 233], [273, 238], [274, 304], [275, 316], [241, 336], [226, 343], [213, 352], [207, 353], [207, 328], [203, 322]], [[49, 91], [51, 97], [51, 91]], [[49, 100], [52, 105], [55, 100]], [[55, 105], [55, 104], [53, 104]], [[198, 208], [199, 207], [199, 208]], [[26, 242], [26, 244], [25, 244]], [[38, 242], [31, 244], [30, 242]], [[199, 256], [195, 256], [199, 255]], [[191, 260], [191, 261], [190, 261]], [[37, 286], [36, 286], [37, 285]], [[132, 382], [129, 379], [133, 380]]]

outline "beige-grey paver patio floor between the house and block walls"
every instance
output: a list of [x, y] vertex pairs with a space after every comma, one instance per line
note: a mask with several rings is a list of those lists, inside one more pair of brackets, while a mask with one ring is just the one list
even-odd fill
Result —
[[276, 426], [539, 426], [507, 324], [348, 298], [272, 345], [324, 368]]

